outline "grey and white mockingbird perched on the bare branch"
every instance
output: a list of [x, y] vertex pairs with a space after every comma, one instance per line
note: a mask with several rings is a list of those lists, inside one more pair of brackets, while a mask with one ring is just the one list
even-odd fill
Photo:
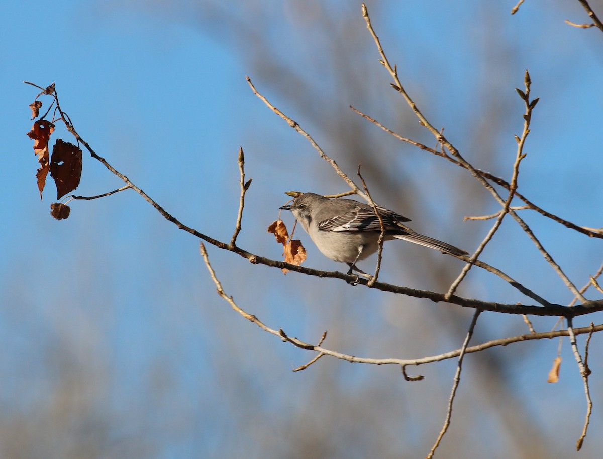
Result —
[[[369, 204], [353, 199], [329, 199], [316, 193], [300, 193], [291, 204], [280, 208], [292, 211], [323, 255], [347, 263], [349, 274], [352, 270], [363, 273], [356, 267], [356, 262], [374, 254], [379, 248], [377, 242], [381, 225], [373, 206]], [[446, 242], [415, 233], [402, 224], [410, 219], [392, 210], [380, 206], [377, 206], [377, 210], [385, 228], [384, 240], [402, 239], [444, 254], [468, 255], [466, 251]]]

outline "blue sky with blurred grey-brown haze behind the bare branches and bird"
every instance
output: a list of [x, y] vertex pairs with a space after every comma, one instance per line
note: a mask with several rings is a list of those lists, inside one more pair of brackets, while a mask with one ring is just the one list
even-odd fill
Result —
[[[448, 2], [369, 7], [382, 45], [399, 64], [406, 89], [425, 107], [426, 116], [444, 126], [449, 140], [476, 166], [505, 177], [515, 152], [513, 134], [522, 128], [523, 107], [514, 88], [522, 87], [528, 68], [532, 94], [540, 102], [520, 191], [553, 213], [598, 227], [603, 226], [596, 198], [603, 192], [598, 146], [603, 34], [564, 24], [563, 19], [586, 21], [578, 2], [569, 3], [528, 1], [515, 16], [509, 14], [511, 4], [478, 1], [466, 7]], [[443, 420], [452, 363], [421, 367], [432, 380], [423, 386], [405, 385], [392, 369], [324, 359], [323, 366], [292, 373], [308, 355], [229, 310], [215, 295], [198, 241], [163, 220], [139, 196], [127, 191], [72, 201], [71, 217], [53, 220], [49, 205], [54, 190], [48, 183], [40, 201], [37, 163], [25, 136], [33, 123], [27, 105], [37, 92], [22, 81], [40, 86], [54, 82], [63, 109], [99, 155], [183, 223], [221, 240], [229, 240], [234, 229], [236, 157], [242, 146], [247, 176], [254, 180], [239, 241], [252, 252], [279, 258], [280, 250], [265, 227], [286, 201], [283, 192], [330, 193], [345, 187], [308, 143], [253, 95], [245, 81], [249, 75], [260, 92], [306, 128], [350, 175], [357, 165], [349, 154], [355, 142], [371, 149], [365, 151], [363, 167], [391, 155], [388, 169], [399, 177], [396, 190], [414, 190], [418, 204], [412, 201], [400, 208], [405, 201], [373, 183], [380, 192], [376, 199], [412, 217], [417, 230], [475, 248], [489, 225], [463, 223], [462, 216], [491, 213], [496, 205], [491, 199], [473, 204], [476, 189], [466, 187], [472, 180], [469, 174], [438, 169], [443, 167], [439, 161], [394, 142], [347, 108], [352, 104], [366, 109], [386, 125], [434, 145], [389, 89], [359, 10], [359, 4], [343, 1], [324, 8], [320, 2], [270, 1], [226, 6], [207, 2], [201, 7], [186, 1], [5, 5], [0, 27], [0, 186], [6, 197], [0, 226], [0, 335], [5, 349], [0, 377], [5, 390], [0, 402], [7, 414], [2, 425], [17, 429], [22, 419], [46, 430], [60, 425], [36, 439], [36, 447], [52, 451], [52, 457], [67, 457], [62, 444], [78, 443], [86, 434], [100, 443], [99, 457], [200, 457], [200, 452], [202, 457], [237, 457], [250, 443], [254, 446], [249, 457], [285, 457], [279, 451], [286, 450], [287, 436], [300, 425], [311, 425], [308, 419], [314, 412], [305, 407], [314, 407], [315, 416], [329, 425], [338, 422], [335, 410], [352, 410], [350, 399], [373, 395], [375, 411], [358, 408], [347, 414], [358, 416], [358, 425], [332, 432], [332, 441], [345, 443], [355, 428], [369, 432], [368, 426], [376, 422], [373, 417], [382, 412], [385, 419], [395, 420], [390, 427], [393, 437], [387, 437], [389, 431], [379, 434], [396, 439], [394, 450], [401, 448], [396, 442], [408, 442], [412, 451], [425, 454]], [[265, 41], [254, 42], [254, 34]], [[259, 43], [268, 43], [270, 51]], [[342, 68], [348, 67], [333, 57], [346, 46], [358, 48], [347, 73]], [[356, 89], [342, 90], [350, 81]], [[295, 99], [297, 93], [304, 98]], [[362, 140], [354, 138], [359, 132], [365, 136]], [[62, 129], [54, 138], [72, 140]], [[368, 170], [371, 176], [374, 172]], [[96, 195], [119, 186], [118, 178], [84, 151], [77, 193]], [[525, 217], [567, 274], [579, 287], [584, 285], [601, 264], [600, 241], [534, 214]], [[305, 235], [300, 237], [309, 242]], [[396, 257], [386, 261], [390, 271], [385, 280], [438, 288], [431, 277], [421, 276], [434, 265], [411, 258], [433, 254], [397, 250]], [[327, 286], [294, 273], [283, 277], [278, 270], [248, 266], [236, 255], [212, 248], [209, 255], [227, 293], [242, 307], [301, 339], [318, 339], [329, 329], [330, 346], [342, 352], [376, 357], [443, 352], [458, 347], [464, 333], [447, 328], [446, 321], [461, 317], [461, 323], [469, 323], [466, 311]], [[341, 269], [311, 247], [309, 255], [308, 266]], [[505, 222], [485, 256], [551, 301], [570, 301], [569, 292], [511, 221]], [[450, 272], [460, 269], [447, 263], [443, 266]], [[466, 295], [522, 301], [497, 279], [483, 273], [471, 276]], [[596, 316], [600, 322], [601, 314]], [[541, 330], [551, 322], [537, 320]], [[584, 319], [576, 325], [587, 323]], [[484, 314], [480, 325], [484, 340], [525, 333], [517, 318], [496, 314]], [[405, 339], [423, 328], [434, 336], [425, 342]], [[593, 366], [601, 352], [597, 338], [593, 337]], [[505, 361], [505, 378], [529, 407], [531, 420], [551, 442], [548, 446], [559, 457], [569, 457], [581, 429], [584, 401], [567, 342], [562, 381], [543, 382], [556, 350], [556, 341], [515, 345], [493, 352], [485, 361]], [[467, 392], [487, 379], [482, 365], [487, 367], [487, 362], [467, 364]], [[600, 385], [597, 374], [593, 387]], [[598, 410], [603, 399], [594, 392]], [[63, 411], [49, 408], [55, 396], [72, 393], [80, 402]], [[482, 396], [497, 395], [486, 390]], [[437, 399], [433, 407], [420, 405], [432, 398]], [[247, 405], [239, 405], [241, 399]], [[396, 402], [389, 404], [388, 399]], [[312, 405], [321, 400], [324, 411]], [[459, 401], [458, 420], [512, 431], [503, 428], [503, 416], [488, 417], [487, 408], [476, 414], [474, 402], [470, 397]], [[423, 408], [425, 419], [416, 421], [420, 427], [403, 422], [404, 413]], [[560, 415], [568, 411], [567, 419]], [[597, 457], [601, 440], [593, 432], [600, 431], [601, 421], [600, 414], [593, 414], [581, 457]], [[269, 426], [266, 430], [274, 429], [278, 439], [267, 440], [270, 435], [259, 428], [262, 423]], [[92, 434], [85, 431], [87, 425], [93, 426]], [[421, 435], [412, 435], [413, 429]], [[380, 437], [356, 438], [365, 440], [368, 448]], [[496, 441], [505, 443], [504, 438]], [[139, 439], [146, 451], [134, 441]], [[505, 447], [513, 451], [512, 445], [508, 440]], [[462, 451], [452, 439], [447, 448], [447, 457]], [[361, 455], [362, 448], [358, 451]], [[35, 450], [29, 454], [36, 457]], [[332, 457], [353, 456], [342, 447]]]

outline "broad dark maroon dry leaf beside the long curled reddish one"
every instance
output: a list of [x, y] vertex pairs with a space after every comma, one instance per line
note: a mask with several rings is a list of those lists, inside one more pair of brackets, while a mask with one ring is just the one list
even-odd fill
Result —
[[57, 186], [57, 199], [75, 190], [80, 184], [81, 150], [72, 143], [57, 139], [52, 148], [50, 175]]

